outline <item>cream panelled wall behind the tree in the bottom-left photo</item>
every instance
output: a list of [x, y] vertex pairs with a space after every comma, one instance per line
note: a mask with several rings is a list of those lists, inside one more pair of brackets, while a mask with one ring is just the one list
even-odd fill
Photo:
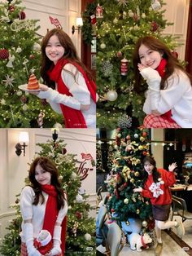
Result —
[[[15, 215], [11, 205], [15, 204], [15, 195], [20, 194], [24, 187], [24, 179], [28, 176], [28, 163], [31, 163], [35, 153], [41, 149], [36, 143], [46, 143], [47, 139], [52, 139], [50, 129], [25, 129], [29, 134], [29, 144], [26, 155], [23, 156], [22, 153], [18, 157], [15, 154], [15, 144], [18, 143], [21, 130], [23, 129], [0, 129], [0, 239], [6, 233], [8, 221]], [[64, 143], [67, 143], [67, 152], [76, 154], [78, 161], [83, 161], [81, 153], [90, 153], [95, 161], [95, 130], [62, 129], [59, 132], [59, 139], [64, 139]], [[90, 161], [85, 161], [84, 167], [88, 170], [88, 176], [82, 181], [82, 188], [89, 194], [89, 204], [95, 207], [96, 170]], [[95, 211], [90, 214], [94, 217]]]

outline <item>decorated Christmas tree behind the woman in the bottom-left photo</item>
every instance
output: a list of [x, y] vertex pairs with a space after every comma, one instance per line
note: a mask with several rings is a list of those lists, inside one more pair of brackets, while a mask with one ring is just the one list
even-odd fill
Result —
[[[89, 255], [95, 255], [95, 220], [89, 217], [91, 207], [86, 201], [88, 196], [81, 189], [81, 178], [76, 170], [75, 155], [67, 153], [63, 140], [56, 141], [56, 143], [48, 140], [47, 143], [38, 143], [37, 145], [41, 147], [41, 151], [38, 152], [39, 156], [49, 157], [55, 161], [59, 170], [59, 179], [68, 194], [68, 230], [65, 255], [86, 254], [88, 249]], [[26, 184], [28, 184], [28, 179], [26, 179]], [[19, 200], [17, 199], [15, 203], [16, 218], [7, 228], [8, 233], [0, 248], [0, 253], [6, 256], [20, 255], [22, 218]]]

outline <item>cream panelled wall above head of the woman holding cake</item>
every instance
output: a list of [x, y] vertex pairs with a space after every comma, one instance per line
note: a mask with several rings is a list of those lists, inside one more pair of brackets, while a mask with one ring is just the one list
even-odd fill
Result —
[[81, 56], [81, 34], [72, 35], [72, 25], [76, 25], [76, 17], [81, 16], [81, 0], [23, 0], [22, 7], [26, 7], [27, 19], [39, 20], [37, 24], [41, 28], [37, 33], [41, 36], [46, 35], [47, 29], [55, 29], [55, 25], [50, 23], [49, 16], [57, 18], [63, 30], [72, 38]]

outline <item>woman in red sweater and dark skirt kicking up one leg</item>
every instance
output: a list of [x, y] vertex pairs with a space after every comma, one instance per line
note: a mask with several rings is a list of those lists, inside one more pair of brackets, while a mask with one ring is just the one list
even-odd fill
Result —
[[169, 187], [175, 182], [173, 170], [177, 167], [176, 163], [168, 166], [168, 170], [156, 168], [156, 162], [152, 157], [145, 157], [144, 161], [144, 188], [134, 188], [133, 192], [141, 192], [142, 196], [151, 199], [153, 216], [155, 218], [155, 232], [157, 237], [157, 246], [155, 255], [159, 256], [163, 249], [161, 240], [161, 230], [171, 227], [177, 228], [177, 235], [182, 237], [185, 230], [182, 222], [169, 221], [168, 216], [172, 203], [172, 194]]

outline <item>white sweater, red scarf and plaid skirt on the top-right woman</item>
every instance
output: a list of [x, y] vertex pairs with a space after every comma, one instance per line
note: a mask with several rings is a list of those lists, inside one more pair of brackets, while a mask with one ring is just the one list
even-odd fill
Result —
[[[162, 59], [164, 62], [165, 60]], [[160, 90], [161, 77], [164, 76], [166, 63], [160, 63], [163, 68], [155, 70], [151, 67], [142, 69], [142, 77], [149, 86], [146, 91], [146, 101], [143, 111], [147, 114], [144, 120], [146, 128], [191, 128], [192, 127], [192, 86], [190, 79], [180, 69], [175, 69], [168, 77], [168, 86]], [[153, 110], [162, 113], [152, 114]]]

